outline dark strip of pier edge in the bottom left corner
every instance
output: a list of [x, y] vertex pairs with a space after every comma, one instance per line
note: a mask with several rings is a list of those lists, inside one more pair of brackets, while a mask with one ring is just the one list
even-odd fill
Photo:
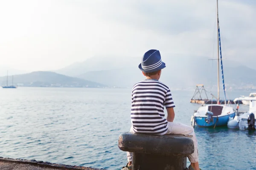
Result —
[[0, 170], [104, 170], [50, 162], [0, 157]]

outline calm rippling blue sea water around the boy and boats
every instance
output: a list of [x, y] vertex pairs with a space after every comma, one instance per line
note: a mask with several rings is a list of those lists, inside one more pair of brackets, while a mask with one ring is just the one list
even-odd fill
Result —
[[[172, 94], [175, 121], [191, 125], [199, 107], [189, 103], [193, 91]], [[117, 142], [131, 127], [130, 89], [0, 89], [0, 107], [0, 156], [109, 170], [126, 164]], [[204, 170], [256, 170], [256, 132], [222, 127], [195, 133]]]

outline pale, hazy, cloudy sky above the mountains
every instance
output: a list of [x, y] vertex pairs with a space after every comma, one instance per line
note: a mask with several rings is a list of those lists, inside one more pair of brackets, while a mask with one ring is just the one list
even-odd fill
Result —
[[[254, 68], [256, 1], [218, 7], [223, 58]], [[0, 0], [0, 67], [56, 70], [149, 49], [214, 58], [216, 24], [216, 0]]]

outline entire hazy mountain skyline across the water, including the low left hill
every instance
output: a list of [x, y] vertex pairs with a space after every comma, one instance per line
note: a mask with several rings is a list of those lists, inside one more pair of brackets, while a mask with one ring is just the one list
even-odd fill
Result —
[[[162, 71], [160, 81], [170, 88], [194, 89], [196, 84], [204, 84], [208, 90], [217, 90], [216, 60], [177, 54], [163, 56], [162, 60], [166, 62], [166, 68]], [[141, 57], [93, 57], [54, 72], [38, 71], [15, 75], [14, 82], [26, 86], [131, 88], [136, 82], [145, 79], [138, 68], [140, 62]], [[256, 70], [226, 59], [223, 63], [227, 90], [256, 89]], [[0, 77], [0, 83], [5, 85], [6, 78]], [[221, 70], [220, 85], [222, 88]]]

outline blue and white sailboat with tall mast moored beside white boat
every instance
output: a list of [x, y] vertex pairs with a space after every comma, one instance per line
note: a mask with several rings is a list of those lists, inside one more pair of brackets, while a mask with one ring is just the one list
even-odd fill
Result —
[[[227, 103], [225, 84], [224, 84], [224, 74], [221, 56], [221, 37], [220, 28], [218, 21], [218, 0], [217, 0], [217, 33], [218, 33], [218, 97], [217, 104], [202, 105], [198, 110], [192, 115], [191, 122], [192, 126], [198, 127], [215, 127], [215, 126], [227, 126], [227, 122], [230, 118], [235, 117], [235, 110]], [[219, 57], [220, 56], [220, 57]], [[220, 85], [219, 85], [219, 60], [221, 60], [221, 73], [224, 91], [224, 105], [220, 104]]]

